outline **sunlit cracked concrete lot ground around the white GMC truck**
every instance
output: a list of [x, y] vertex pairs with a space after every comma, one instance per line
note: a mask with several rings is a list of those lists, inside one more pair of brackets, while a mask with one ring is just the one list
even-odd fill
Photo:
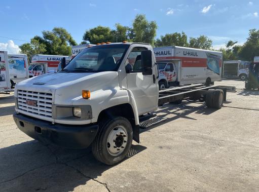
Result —
[[259, 92], [234, 85], [220, 110], [183, 102], [143, 130], [128, 158], [97, 162], [90, 149], [44, 145], [17, 129], [14, 97], [0, 95], [0, 191], [258, 191]]

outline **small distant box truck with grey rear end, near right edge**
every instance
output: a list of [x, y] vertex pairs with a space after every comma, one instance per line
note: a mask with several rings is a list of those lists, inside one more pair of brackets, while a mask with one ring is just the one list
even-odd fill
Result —
[[249, 73], [249, 61], [224, 61], [223, 62], [223, 78], [240, 78], [245, 80]]

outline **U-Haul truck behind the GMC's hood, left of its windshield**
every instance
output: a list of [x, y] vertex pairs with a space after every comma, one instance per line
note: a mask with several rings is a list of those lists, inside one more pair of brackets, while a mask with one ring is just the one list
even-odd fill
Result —
[[66, 58], [66, 61], [70, 60], [69, 56], [62, 55], [34, 55], [29, 66], [29, 77], [32, 78], [48, 72], [57, 72], [58, 64], [63, 57]]

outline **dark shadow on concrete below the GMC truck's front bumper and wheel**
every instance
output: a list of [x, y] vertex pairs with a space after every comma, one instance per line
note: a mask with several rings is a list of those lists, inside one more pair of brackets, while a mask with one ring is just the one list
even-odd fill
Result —
[[[142, 145], [132, 145], [124, 161], [144, 149]], [[0, 149], [0, 188], [1, 191], [73, 191], [91, 180], [90, 186], [94, 183], [105, 189], [107, 184], [98, 181], [98, 177], [113, 167], [119, 169], [117, 165], [107, 166], [95, 160], [90, 148], [65, 149], [26, 141]]]

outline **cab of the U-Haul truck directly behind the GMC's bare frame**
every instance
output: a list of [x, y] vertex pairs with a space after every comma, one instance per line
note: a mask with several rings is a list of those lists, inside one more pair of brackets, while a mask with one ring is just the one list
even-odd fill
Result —
[[173, 85], [177, 81], [177, 66], [173, 62], [158, 62], [159, 90]]

